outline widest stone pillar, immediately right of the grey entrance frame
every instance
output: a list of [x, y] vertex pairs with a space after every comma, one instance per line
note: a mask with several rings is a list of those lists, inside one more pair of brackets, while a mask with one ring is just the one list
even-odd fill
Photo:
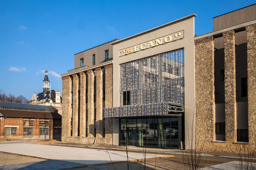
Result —
[[[204, 140], [206, 140], [205, 145], [207, 147], [207, 145], [209, 145], [212, 140], [215, 140], [213, 36], [195, 40], [195, 96], [196, 143], [198, 143], [199, 145], [197, 147], [202, 147]], [[190, 126], [194, 127], [194, 125], [192, 124], [187, 126], [188, 128]], [[185, 136], [185, 138], [188, 137], [191, 139], [192, 134], [188, 134]], [[191, 143], [191, 141], [188, 142]], [[188, 145], [191, 145], [190, 143], [185, 144], [186, 149], [189, 148]]]

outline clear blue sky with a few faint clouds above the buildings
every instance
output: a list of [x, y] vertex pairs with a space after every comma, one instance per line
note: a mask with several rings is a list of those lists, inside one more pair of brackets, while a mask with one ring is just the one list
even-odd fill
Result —
[[74, 54], [195, 13], [195, 33], [211, 32], [212, 17], [256, 0], [198, 1], [10, 1], [0, 0], [0, 89], [42, 92], [45, 65], [52, 89], [74, 68]]

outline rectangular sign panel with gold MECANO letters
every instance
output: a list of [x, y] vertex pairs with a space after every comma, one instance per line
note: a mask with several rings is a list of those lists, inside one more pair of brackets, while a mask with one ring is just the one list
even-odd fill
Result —
[[152, 47], [157, 47], [175, 40], [179, 40], [179, 39], [183, 39], [184, 38], [184, 31], [179, 31], [179, 32], [175, 32], [172, 33], [170, 35], [166, 35], [154, 40], [150, 40], [147, 41], [146, 43], [141, 43], [141, 44], [137, 44], [135, 46], [132, 47], [128, 47], [125, 49], [121, 49], [119, 50], [119, 56], [124, 56], [124, 55], [128, 55], [134, 52], [138, 52], [138, 51], [142, 51], [142, 50], [146, 50], [148, 48], [152, 48]]

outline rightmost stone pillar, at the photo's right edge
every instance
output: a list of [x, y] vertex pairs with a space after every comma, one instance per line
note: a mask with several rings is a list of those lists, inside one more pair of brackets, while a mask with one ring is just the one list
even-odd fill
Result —
[[256, 131], [256, 24], [249, 25], [247, 32], [247, 76], [248, 76], [248, 131], [249, 142], [255, 142]]

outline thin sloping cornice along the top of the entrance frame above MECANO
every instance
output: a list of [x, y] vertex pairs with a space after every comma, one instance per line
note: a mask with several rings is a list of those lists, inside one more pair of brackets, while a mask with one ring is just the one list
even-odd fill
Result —
[[185, 17], [183, 17], [183, 18], [180, 18], [180, 19], [171, 21], [171, 22], [169, 22], [169, 23], [160, 25], [160, 26], [158, 26], [158, 27], [148, 29], [147, 31], [143, 31], [143, 32], [137, 33], [137, 34], [135, 34], [135, 35], [132, 35], [132, 36], [129, 36], [129, 37], [127, 37], [127, 38], [124, 38], [124, 39], [121, 39], [121, 40], [119, 40], [119, 41], [116, 41], [116, 42], [114, 42], [114, 43], [112, 43], [112, 44], [114, 45], [114, 44], [118, 44], [118, 43], [121, 43], [121, 42], [126, 41], [126, 40], [129, 40], [129, 39], [133, 39], [133, 38], [138, 37], [138, 36], [140, 36], [140, 35], [146, 34], [146, 33], [148, 33], [148, 32], [155, 31], [156, 29], [160, 29], [160, 28], [166, 27], [166, 26], [168, 26], [168, 25], [172, 25], [172, 24], [178, 23], [178, 22], [180, 22], [180, 21], [186, 20], [186, 19], [191, 18], [191, 17], [196, 17], [196, 14], [193, 13], [193, 14], [191, 14], [191, 15], [188, 15], [188, 16], [185, 16]]

